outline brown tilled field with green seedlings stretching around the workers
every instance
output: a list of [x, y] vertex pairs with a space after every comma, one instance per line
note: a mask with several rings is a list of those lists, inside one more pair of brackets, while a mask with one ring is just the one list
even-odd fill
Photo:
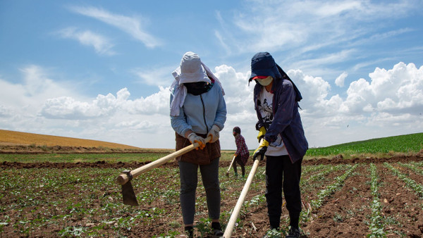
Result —
[[[300, 184], [302, 237], [422, 237], [421, 149], [407, 154], [394, 149], [378, 157], [307, 157]], [[245, 184], [244, 178], [233, 177], [233, 170], [225, 175], [232, 154], [223, 151], [219, 170], [223, 227]], [[174, 161], [132, 181], [140, 206], [123, 205], [116, 183], [123, 169], [165, 155], [0, 154], [0, 237], [178, 237], [183, 227]], [[246, 173], [251, 165], [250, 160]], [[269, 230], [263, 172], [261, 162], [233, 237], [262, 237]], [[211, 221], [199, 181], [195, 233], [209, 237]], [[287, 214], [283, 207], [283, 232]]]

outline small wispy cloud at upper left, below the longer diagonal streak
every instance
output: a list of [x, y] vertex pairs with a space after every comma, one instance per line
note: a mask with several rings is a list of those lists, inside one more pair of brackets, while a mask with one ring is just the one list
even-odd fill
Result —
[[109, 39], [89, 30], [82, 31], [75, 27], [68, 27], [60, 30], [59, 35], [63, 38], [76, 39], [85, 46], [93, 46], [97, 54], [109, 56], [116, 54], [111, 50], [114, 45], [109, 42]]

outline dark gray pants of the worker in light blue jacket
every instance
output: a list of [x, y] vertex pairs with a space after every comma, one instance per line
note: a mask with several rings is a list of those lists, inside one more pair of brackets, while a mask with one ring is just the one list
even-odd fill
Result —
[[182, 208], [183, 223], [194, 223], [195, 215], [195, 190], [197, 189], [197, 170], [200, 173], [207, 196], [209, 218], [220, 217], [220, 187], [219, 187], [219, 158], [215, 158], [209, 165], [196, 165], [194, 163], [179, 161], [180, 173], [180, 207]]

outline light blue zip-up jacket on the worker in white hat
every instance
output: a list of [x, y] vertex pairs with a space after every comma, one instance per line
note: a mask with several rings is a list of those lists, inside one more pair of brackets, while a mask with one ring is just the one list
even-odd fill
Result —
[[197, 96], [187, 94], [179, 115], [171, 116], [173, 130], [183, 137], [187, 130], [207, 134], [213, 125], [222, 130], [225, 121], [226, 103], [219, 84], [214, 84], [208, 92]]

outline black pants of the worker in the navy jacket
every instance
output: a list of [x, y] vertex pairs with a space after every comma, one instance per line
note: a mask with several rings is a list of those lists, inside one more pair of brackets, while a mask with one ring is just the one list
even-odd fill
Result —
[[298, 227], [301, 212], [301, 163], [291, 163], [289, 156], [266, 156], [266, 201], [271, 227], [281, 223], [282, 189], [291, 226]]

